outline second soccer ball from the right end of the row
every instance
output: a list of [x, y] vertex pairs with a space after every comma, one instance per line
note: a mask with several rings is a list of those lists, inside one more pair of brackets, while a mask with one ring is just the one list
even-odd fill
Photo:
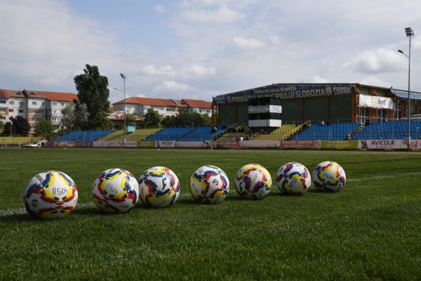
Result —
[[300, 163], [289, 162], [283, 164], [276, 174], [276, 185], [282, 193], [289, 195], [303, 195], [312, 184], [309, 170]]

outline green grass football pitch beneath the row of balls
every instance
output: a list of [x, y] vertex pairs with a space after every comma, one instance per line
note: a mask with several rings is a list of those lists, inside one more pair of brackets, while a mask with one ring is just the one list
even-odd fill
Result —
[[[314, 185], [281, 195], [276, 172], [300, 162], [310, 174], [332, 160], [345, 169], [338, 193]], [[0, 148], [0, 280], [419, 280], [421, 154], [336, 150], [176, 150]], [[263, 200], [243, 200], [234, 176], [257, 163], [272, 176]], [[194, 171], [225, 171], [229, 196], [199, 204]], [[166, 166], [180, 179], [167, 209], [141, 202], [128, 214], [100, 214], [95, 178], [111, 168], [136, 178]], [[79, 190], [72, 214], [41, 221], [27, 214], [25, 186], [41, 171], [69, 175]]]

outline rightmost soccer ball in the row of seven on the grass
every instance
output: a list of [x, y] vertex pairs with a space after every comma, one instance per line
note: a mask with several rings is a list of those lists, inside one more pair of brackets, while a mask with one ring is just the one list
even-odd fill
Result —
[[345, 171], [336, 162], [321, 162], [314, 168], [313, 183], [318, 190], [338, 192], [344, 187], [345, 181], [347, 181]]

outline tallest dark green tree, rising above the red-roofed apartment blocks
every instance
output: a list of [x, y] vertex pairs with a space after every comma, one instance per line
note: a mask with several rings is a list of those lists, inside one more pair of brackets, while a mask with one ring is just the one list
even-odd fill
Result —
[[105, 115], [109, 109], [108, 78], [100, 75], [98, 66], [85, 66], [84, 73], [74, 77], [79, 103], [86, 105], [89, 114], [81, 129], [101, 129], [109, 121]]

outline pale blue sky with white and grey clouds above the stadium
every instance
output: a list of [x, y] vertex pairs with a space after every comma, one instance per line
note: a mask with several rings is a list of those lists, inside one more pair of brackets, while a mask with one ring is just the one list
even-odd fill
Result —
[[397, 50], [409, 55], [411, 27], [421, 92], [420, 11], [417, 0], [0, 0], [0, 89], [77, 93], [74, 77], [96, 65], [111, 103], [124, 89], [206, 101], [274, 83], [408, 91]]

